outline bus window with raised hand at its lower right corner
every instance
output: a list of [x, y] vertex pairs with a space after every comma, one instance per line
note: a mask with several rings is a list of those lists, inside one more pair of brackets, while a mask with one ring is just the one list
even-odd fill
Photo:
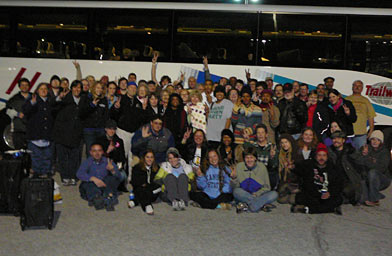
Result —
[[154, 51], [159, 59], [170, 58], [169, 10], [99, 10], [100, 40], [95, 58], [111, 60], [149, 60]]

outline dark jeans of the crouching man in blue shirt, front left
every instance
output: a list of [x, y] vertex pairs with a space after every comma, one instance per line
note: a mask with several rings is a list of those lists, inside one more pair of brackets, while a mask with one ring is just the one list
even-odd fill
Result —
[[108, 175], [102, 181], [106, 184], [106, 187], [99, 188], [92, 181], [83, 181], [79, 186], [80, 196], [87, 201], [92, 201], [97, 194], [106, 197], [112, 193], [116, 196], [117, 187], [121, 180], [115, 176]]

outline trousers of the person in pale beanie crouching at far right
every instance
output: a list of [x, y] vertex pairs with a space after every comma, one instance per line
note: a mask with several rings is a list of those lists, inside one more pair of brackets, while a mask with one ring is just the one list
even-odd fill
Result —
[[376, 202], [384, 199], [385, 196], [380, 191], [386, 189], [391, 185], [391, 179], [382, 174], [380, 171], [370, 169], [366, 180], [362, 184], [362, 198], [361, 203], [365, 201]]

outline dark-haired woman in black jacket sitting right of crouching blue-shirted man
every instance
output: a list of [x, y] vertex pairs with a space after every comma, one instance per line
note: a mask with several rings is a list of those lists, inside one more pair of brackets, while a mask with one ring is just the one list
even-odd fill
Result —
[[135, 200], [129, 201], [128, 206], [134, 207], [140, 203], [144, 212], [154, 214], [152, 203], [155, 202], [162, 191], [161, 186], [154, 182], [159, 166], [155, 162], [152, 149], [147, 149], [140, 159], [140, 163], [132, 170], [132, 186]]

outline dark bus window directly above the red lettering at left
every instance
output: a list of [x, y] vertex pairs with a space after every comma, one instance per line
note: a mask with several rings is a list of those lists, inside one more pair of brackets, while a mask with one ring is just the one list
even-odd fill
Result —
[[21, 57], [87, 58], [87, 12], [24, 8], [17, 17], [16, 54]]

